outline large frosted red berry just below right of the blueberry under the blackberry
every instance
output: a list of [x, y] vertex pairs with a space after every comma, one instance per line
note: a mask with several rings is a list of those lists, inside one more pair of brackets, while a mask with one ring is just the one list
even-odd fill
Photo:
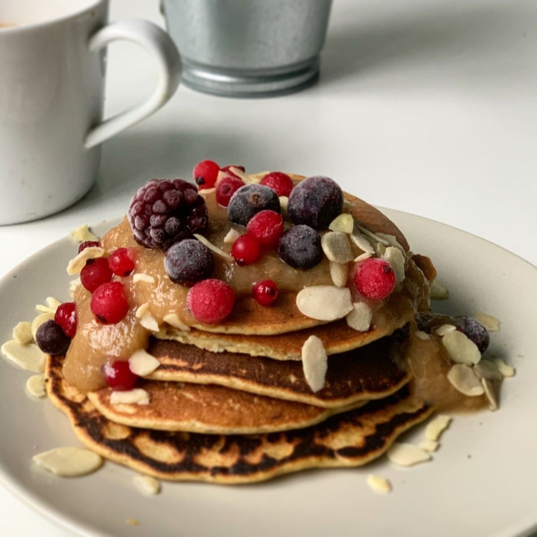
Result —
[[223, 321], [233, 310], [235, 291], [221, 280], [199, 281], [188, 291], [186, 306], [198, 321], [214, 324]]

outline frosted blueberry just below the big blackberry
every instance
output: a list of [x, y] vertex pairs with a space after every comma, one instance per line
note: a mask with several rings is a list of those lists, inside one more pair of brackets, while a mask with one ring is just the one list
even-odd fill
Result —
[[164, 270], [176, 284], [194, 285], [208, 278], [213, 269], [211, 250], [192, 238], [170, 246], [164, 258]]

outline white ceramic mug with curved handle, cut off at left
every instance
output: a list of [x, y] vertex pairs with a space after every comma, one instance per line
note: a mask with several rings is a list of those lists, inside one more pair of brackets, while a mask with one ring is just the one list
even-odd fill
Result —
[[[0, 224], [68, 207], [97, 176], [100, 143], [147, 118], [179, 84], [176, 46], [143, 20], [106, 24], [108, 0], [0, 0]], [[138, 43], [153, 95], [103, 121], [106, 46]]]

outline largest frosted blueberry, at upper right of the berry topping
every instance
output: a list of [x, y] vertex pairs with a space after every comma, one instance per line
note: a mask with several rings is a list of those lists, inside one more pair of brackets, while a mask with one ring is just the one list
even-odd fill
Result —
[[304, 179], [289, 194], [287, 213], [294, 224], [326, 229], [342, 211], [343, 191], [328, 177]]

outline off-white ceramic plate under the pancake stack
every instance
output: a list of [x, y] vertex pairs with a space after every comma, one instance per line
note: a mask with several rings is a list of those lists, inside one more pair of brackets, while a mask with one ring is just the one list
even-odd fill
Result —
[[[433, 461], [402, 469], [386, 458], [363, 469], [315, 470], [257, 485], [223, 487], [163, 483], [147, 498], [132, 470], [106, 463], [97, 473], [61, 479], [31, 469], [32, 455], [76, 445], [67, 418], [25, 394], [28, 373], [0, 360], [0, 476], [35, 509], [86, 535], [443, 535], [513, 536], [537, 525], [537, 270], [498, 246], [443, 224], [384, 212], [412, 250], [430, 255], [449, 288], [437, 310], [485, 311], [502, 321], [489, 353], [517, 367], [504, 382], [501, 409], [455, 417]], [[113, 222], [115, 223], [115, 222]], [[111, 224], [101, 224], [104, 233]], [[48, 295], [68, 300], [65, 267], [76, 245], [64, 238], [36, 253], [0, 282], [0, 338], [10, 338], [34, 304]], [[420, 439], [423, 426], [408, 434]], [[393, 492], [375, 495], [374, 472]], [[131, 527], [125, 519], [135, 518]]]

